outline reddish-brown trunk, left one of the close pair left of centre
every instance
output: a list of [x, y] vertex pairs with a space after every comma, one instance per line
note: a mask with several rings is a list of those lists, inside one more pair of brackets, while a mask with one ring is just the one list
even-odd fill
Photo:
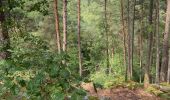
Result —
[[58, 49], [58, 53], [60, 54], [61, 53], [61, 41], [60, 41], [60, 31], [59, 31], [58, 0], [54, 0], [54, 16], [55, 16], [57, 49]]

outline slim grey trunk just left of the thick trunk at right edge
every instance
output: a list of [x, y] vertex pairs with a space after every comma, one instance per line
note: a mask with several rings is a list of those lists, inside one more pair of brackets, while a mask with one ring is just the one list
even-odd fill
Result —
[[160, 49], [159, 49], [159, 0], [156, 0], [156, 80], [159, 84], [159, 63], [160, 63]]

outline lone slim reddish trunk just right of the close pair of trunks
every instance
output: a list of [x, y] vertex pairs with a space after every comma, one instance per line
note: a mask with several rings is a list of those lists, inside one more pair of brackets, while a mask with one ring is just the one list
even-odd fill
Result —
[[80, 0], [77, 1], [77, 7], [78, 7], [78, 55], [79, 55], [79, 74], [82, 76], [82, 56], [81, 56], [81, 40], [80, 40]]

